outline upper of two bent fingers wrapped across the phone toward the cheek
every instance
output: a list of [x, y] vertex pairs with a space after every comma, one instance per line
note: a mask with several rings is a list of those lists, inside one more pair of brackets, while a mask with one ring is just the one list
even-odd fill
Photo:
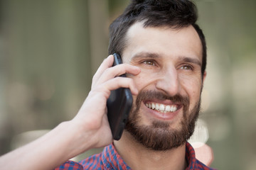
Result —
[[102, 84], [109, 79], [113, 79], [114, 77], [118, 77], [126, 73], [137, 75], [140, 71], [141, 69], [139, 67], [133, 66], [131, 64], [119, 64], [117, 66], [106, 69], [95, 84]]

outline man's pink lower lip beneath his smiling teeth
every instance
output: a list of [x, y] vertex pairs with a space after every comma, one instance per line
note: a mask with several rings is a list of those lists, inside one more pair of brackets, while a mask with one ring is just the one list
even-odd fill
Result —
[[150, 115], [153, 115], [154, 118], [161, 119], [161, 120], [173, 120], [176, 117], [176, 115], [178, 114], [178, 112], [181, 110], [181, 108], [179, 108], [175, 112], [161, 113], [160, 111], [156, 111], [156, 110], [146, 107], [144, 105], [144, 103], [142, 105], [146, 109], [146, 113], [149, 113]]

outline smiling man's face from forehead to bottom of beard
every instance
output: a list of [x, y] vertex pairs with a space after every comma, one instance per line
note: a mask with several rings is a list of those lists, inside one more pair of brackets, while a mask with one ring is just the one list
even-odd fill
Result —
[[127, 32], [122, 60], [141, 68], [139, 75], [129, 75], [139, 95], [134, 96], [126, 130], [151, 149], [183, 145], [198, 117], [205, 77], [196, 30], [143, 28], [135, 23]]

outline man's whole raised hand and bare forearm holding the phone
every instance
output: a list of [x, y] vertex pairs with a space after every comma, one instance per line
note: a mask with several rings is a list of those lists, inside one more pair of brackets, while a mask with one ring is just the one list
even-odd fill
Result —
[[110, 144], [113, 139], [107, 120], [107, 98], [110, 91], [120, 87], [137, 95], [134, 81], [118, 76], [140, 72], [129, 64], [112, 67], [113, 62], [112, 55], [102, 62], [92, 79], [92, 89], [73, 120], [60, 123], [38, 140], [0, 157], [1, 169], [54, 169], [87, 149]]

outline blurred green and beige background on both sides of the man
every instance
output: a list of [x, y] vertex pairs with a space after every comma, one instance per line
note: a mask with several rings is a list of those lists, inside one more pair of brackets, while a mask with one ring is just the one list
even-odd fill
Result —
[[[212, 166], [254, 170], [256, 1], [195, 2], [208, 43], [201, 120]], [[108, 26], [128, 3], [0, 0], [0, 155], [22, 145], [20, 134], [75, 116], [107, 57]]]

